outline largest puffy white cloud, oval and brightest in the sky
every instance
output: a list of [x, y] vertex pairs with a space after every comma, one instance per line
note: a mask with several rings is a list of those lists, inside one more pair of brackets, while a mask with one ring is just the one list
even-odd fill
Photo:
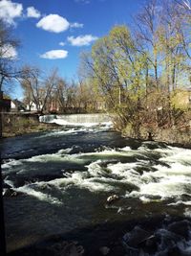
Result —
[[37, 28], [41, 28], [45, 31], [60, 33], [66, 31], [70, 27], [70, 23], [67, 19], [59, 16], [58, 14], [49, 14], [39, 20], [36, 24]]

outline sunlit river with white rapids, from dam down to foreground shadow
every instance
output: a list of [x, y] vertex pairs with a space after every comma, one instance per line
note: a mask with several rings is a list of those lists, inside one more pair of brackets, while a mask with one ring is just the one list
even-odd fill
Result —
[[[49, 121], [55, 119], [62, 120], [52, 117]], [[122, 138], [108, 123], [4, 139], [0, 147], [8, 251], [56, 234], [104, 223], [108, 230], [116, 223], [114, 230], [137, 221], [138, 226], [126, 227], [126, 235], [124, 230], [117, 238], [126, 255], [171, 255], [159, 254], [169, 244], [179, 249], [172, 255], [191, 255], [190, 150]], [[118, 198], [107, 202], [112, 195]], [[154, 235], [158, 238], [155, 250], [153, 246], [145, 252], [138, 243], [129, 246], [136, 232], [139, 236], [145, 231], [145, 227], [137, 230], [142, 228], [138, 220], [159, 217], [164, 221], [150, 228], [152, 236], [143, 236], [149, 241]], [[173, 218], [187, 220], [187, 237], [177, 234], [179, 230], [172, 232]]]

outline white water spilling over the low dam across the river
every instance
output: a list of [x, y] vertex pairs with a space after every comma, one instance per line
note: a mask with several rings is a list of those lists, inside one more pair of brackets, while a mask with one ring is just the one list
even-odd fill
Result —
[[111, 124], [112, 118], [107, 114], [44, 115], [39, 117], [39, 121], [58, 125], [96, 126]]

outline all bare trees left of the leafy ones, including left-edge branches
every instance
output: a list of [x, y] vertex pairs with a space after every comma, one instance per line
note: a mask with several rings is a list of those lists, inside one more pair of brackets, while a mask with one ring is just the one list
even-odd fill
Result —
[[22, 108], [27, 110], [40, 113], [104, 110], [104, 103], [90, 82], [80, 78], [71, 81], [63, 79], [56, 68], [44, 72], [37, 66], [18, 66], [15, 49], [19, 46], [20, 41], [14, 37], [11, 27], [0, 19], [0, 112], [3, 106], [2, 90], [9, 94], [10, 87], [12, 93], [16, 82], [23, 88]]

